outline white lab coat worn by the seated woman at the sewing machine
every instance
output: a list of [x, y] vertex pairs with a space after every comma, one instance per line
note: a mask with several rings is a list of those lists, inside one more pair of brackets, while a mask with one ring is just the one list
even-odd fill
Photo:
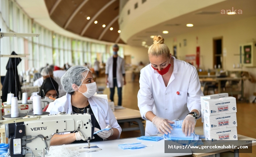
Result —
[[[120, 137], [122, 129], [117, 123], [115, 115], [108, 105], [108, 101], [106, 99], [95, 96], [90, 97], [88, 101], [95, 119], [101, 126], [101, 129], [104, 129], [106, 126], [110, 125], [112, 128], [117, 128], [120, 133]], [[57, 114], [60, 111], [70, 114], [72, 112], [71, 95], [67, 93], [65, 96], [56, 99], [54, 102], [51, 102], [46, 111], [50, 112], [50, 114]]]

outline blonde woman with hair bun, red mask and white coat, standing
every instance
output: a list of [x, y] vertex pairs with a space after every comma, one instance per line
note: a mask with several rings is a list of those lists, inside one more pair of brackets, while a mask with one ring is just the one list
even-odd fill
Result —
[[[168, 134], [174, 123], [183, 120], [185, 135], [194, 132], [201, 115], [201, 85], [194, 66], [170, 54], [161, 36], [154, 37], [148, 49], [150, 63], [141, 69], [138, 106], [146, 120], [145, 135]], [[170, 123], [170, 124], [169, 124]]]

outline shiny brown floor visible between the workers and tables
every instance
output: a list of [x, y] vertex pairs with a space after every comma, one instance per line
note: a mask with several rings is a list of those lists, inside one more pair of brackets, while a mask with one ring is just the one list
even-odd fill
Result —
[[[98, 78], [96, 80], [97, 86], [106, 86], [104, 78]], [[123, 86], [123, 101], [122, 104], [126, 108], [131, 108], [134, 110], [139, 110], [137, 106], [137, 93], [139, 91], [139, 81], [135, 79], [134, 82], [127, 82]], [[110, 89], [105, 88], [104, 94], [110, 95]], [[114, 102], [117, 105], [118, 96], [117, 89], [114, 95]], [[238, 134], [247, 137], [252, 137], [256, 139], [256, 130], [254, 122], [256, 122], [256, 104], [252, 103], [239, 103], [237, 104], [237, 131]], [[255, 120], [255, 121], [254, 121]], [[197, 120], [196, 127], [203, 126], [201, 119]], [[141, 136], [140, 131], [126, 131], [121, 133], [121, 138], [128, 137], [139, 137]], [[256, 156], [256, 146], [252, 147], [252, 153], [240, 153], [240, 157], [255, 157]]]

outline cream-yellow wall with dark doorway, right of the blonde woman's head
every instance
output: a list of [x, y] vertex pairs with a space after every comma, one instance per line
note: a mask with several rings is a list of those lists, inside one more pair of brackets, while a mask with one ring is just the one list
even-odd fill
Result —
[[[213, 38], [218, 37], [222, 37], [222, 53], [223, 49], [227, 50], [227, 55], [223, 56], [223, 68], [230, 71], [239, 70], [233, 68], [233, 64], [237, 66], [240, 62], [240, 58], [237, 56], [240, 53], [239, 44], [256, 42], [256, 16], [166, 38], [165, 44], [171, 52], [173, 51], [172, 47], [177, 45], [177, 58], [180, 60], [185, 60], [185, 55], [196, 55], [196, 47], [200, 46], [200, 66], [207, 70], [213, 69]], [[183, 45], [184, 39], [187, 39], [187, 46]], [[256, 79], [256, 68], [243, 67], [242, 69], [249, 71]], [[248, 80], [245, 81], [245, 96], [250, 96], [253, 92], [256, 92], [256, 84]]]

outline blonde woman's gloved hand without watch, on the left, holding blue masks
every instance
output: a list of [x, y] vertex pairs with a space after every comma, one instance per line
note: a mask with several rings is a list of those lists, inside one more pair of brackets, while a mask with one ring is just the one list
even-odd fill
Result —
[[175, 122], [155, 116], [152, 119], [152, 123], [160, 133], [167, 135], [168, 133], [171, 133], [172, 130], [172, 126], [170, 126], [170, 124], [174, 124]]

